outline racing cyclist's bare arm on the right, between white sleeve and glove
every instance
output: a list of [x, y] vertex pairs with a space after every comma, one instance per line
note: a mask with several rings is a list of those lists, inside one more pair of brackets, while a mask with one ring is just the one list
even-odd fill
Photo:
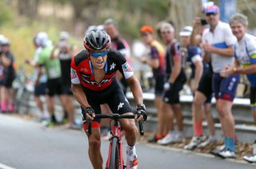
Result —
[[138, 79], [134, 76], [126, 79], [130, 85], [131, 92], [133, 92], [134, 100], [136, 104], [143, 104], [142, 88], [138, 82]]

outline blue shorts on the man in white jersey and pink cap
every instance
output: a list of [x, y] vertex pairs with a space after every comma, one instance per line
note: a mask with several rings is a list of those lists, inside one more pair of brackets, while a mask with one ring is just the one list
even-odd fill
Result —
[[233, 74], [230, 77], [221, 77], [219, 73], [214, 73], [212, 83], [215, 99], [233, 101], [239, 81], [239, 74]]

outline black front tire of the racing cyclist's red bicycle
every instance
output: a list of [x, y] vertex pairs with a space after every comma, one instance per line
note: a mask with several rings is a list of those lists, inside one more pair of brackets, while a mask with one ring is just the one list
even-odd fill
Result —
[[111, 155], [110, 155], [110, 169], [120, 169], [120, 157], [119, 157], [119, 143], [118, 139], [114, 137], [112, 141]]

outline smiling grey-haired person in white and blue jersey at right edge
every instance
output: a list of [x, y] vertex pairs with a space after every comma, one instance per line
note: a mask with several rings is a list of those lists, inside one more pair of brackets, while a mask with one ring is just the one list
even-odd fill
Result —
[[[238, 42], [234, 45], [234, 65], [226, 65], [222, 70], [222, 77], [232, 74], [246, 74], [250, 81], [250, 104], [256, 123], [256, 37], [246, 33], [248, 26], [247, 17], [243, 14], [235, 14], [230, 18], [230, 27]], [[240, 67], [242, 65], [242, 67]], [[255, 153], [256, 150], [254, 150]], [[256, 154], [243, 157], [246, 161], [256, 163]]]

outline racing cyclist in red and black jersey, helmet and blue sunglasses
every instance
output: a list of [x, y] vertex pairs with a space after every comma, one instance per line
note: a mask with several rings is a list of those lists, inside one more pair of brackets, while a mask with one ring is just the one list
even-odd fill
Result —
[[[146, 120], [146, 108], [143, 104], [142, 88], [134, 77], [125, 57], [117, 50], [110, 49], [110, 36], [101, 30], [91, 31], [84, 37], [85, 50], [82, 50], [72, 59], [71, 82], [74, 97], [82, 108], [82, 118], [92, 121], [92, 134], [88, 136], [89, 157], [95, 169], [102, 169], [102, 155], [100, 151], [100, 121], [94, 120], [95, 113], [101, 113], [100, 104], [108, 104], [114, 113], [131, 114], [130, 104], [118, 85], [117, 71], [122, 73], [130, 84], [137, 104], [137, 120]], [[92, 113], [92, 115], [91, 115]], [[138, 137], [138, 128], [134, 120], [122, 120], [122, 128], [126, 134], [126, 168], [137, 168], [138, 158], [134, 144]], [[86, 130], [86, 123], [84, 124]]]

